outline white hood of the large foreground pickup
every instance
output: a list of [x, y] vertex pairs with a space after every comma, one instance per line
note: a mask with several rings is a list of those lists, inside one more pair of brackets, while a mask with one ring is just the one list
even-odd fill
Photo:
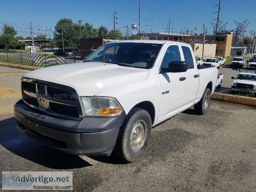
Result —
[[147, 79], [149, 71], [100, 62], [82, 62], [46, 67], [23, 77], [73, 87], [79, 96], [94, 96], [104, 90]]

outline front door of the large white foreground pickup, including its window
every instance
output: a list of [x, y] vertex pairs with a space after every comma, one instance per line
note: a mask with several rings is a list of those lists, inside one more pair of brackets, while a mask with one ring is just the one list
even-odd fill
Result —
[[165, 69], [171, 61], [181, 61], [180, 52], [181, 47], [172, 44], [166, 48], [163, 56], [161, 70], [158, 74], [162, 94], [157, 121], [172, 116], [172, 114], [177, 113], [184, 107], [183, 93], [186, 90], [186, 72], [165, 73]]

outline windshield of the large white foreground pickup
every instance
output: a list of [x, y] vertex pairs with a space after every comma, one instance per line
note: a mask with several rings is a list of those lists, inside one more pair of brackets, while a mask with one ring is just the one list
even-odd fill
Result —
[[126, 67], [149, 69], [162, 44], [115, 42], [105, 44], [83, 62], [105, 62]]

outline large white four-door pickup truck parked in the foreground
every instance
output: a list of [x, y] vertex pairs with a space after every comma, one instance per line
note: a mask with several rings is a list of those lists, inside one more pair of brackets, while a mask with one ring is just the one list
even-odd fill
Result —
[[152, 126], [193, 105], [207, 113], [218, 70], [199, 68], [189, 44], [111, 42], [82, 63], [24, 75], [17, 128], [70, 154], [113, 151], [133, 162], [144, 154]]

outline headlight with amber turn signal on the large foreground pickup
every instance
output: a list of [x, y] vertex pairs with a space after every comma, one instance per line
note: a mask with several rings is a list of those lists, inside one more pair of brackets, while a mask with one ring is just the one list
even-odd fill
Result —
[[113, 97], [80, 97], [84, 116], [117, 116], [123, 111]]

